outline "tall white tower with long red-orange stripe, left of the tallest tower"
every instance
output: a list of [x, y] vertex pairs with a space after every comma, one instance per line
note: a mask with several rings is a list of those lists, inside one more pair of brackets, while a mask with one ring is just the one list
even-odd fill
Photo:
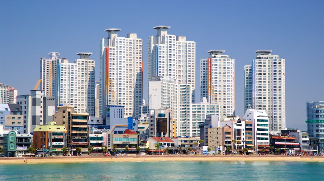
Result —
[[99, 116], [106, 105], [124, 106], [124, 117], [139, 115], [143, 89], [143, 40], [137, 34], [118, 37], [121, 29], [108, 28], [108, 37], [100, 40]]

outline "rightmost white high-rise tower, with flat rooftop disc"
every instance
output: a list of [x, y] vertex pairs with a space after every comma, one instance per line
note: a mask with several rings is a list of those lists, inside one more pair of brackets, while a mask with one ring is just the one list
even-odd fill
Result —
[[[251, 109], [266, 110], [269, 129], [280, 131], [286, 127], [285, 59], [272, 55], [271, 50], [255, 53], [257, 56], [252, 65], [244, 67], [244, 112], [249, 109], [252, 99]], [[250, 93], [252, 97], [249, 97]]]

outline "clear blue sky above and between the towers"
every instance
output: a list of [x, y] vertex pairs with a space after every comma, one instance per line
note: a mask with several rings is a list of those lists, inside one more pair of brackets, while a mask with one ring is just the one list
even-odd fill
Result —
[[[235, 113], [244, 115], [244, 66], [256, 50], [286, 59], [286, 127], [307, 131], [306, 102], [324, 101], [324, 1], [5, 1], [0, 0], [0, 82], [29, 94], [49, 52], [73, 63], [92, 52], [99, 80], [99, 41], [104, 30], [143, 39], [143, 98], [147, 103], [147, 40], [153, 27], [196, 42], [199, 61], [220, 49], [235, 58]], [[199, 91], [198, 91], [199, 92]], [[196, 92], [197, 93], [197, 92]], [[197, 96], [199, 97], [199, 96]], [[196, 100], [199, 102], [199, 100]]]

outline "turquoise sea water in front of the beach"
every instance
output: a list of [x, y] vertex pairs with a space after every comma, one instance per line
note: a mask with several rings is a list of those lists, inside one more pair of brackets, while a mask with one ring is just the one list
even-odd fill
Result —
[[324, 162], [0, 164], [0, 180], [324, 180]]

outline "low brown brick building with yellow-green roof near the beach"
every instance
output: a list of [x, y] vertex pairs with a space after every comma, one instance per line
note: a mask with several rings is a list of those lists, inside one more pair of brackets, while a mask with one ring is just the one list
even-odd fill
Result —
[[62, 155], [67, 146], [67, 129], [56, 122], [36, 126], [33, 130], [33, 148], [44, 156]]

